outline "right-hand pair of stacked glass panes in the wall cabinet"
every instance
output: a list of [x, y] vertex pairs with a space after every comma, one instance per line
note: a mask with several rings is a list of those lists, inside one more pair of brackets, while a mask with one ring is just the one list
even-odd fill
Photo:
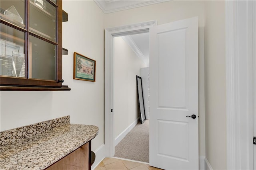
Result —
[[[29, 78], [56, 80], [56, 7], [46, 0], [30, 0]], [[46, 41], [50, 40], [50, 41]]]

